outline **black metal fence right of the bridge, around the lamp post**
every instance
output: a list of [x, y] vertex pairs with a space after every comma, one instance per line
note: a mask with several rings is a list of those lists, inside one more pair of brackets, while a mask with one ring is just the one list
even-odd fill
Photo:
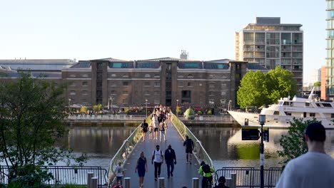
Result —
[[[265, 187], [275, 187], [281, 172], [281, 168], [264, 169]], [[254, 167], [223, 167], [216, 171], [216, 182], [221, 176], [231, 178], [231, 173], [236, 173], [236, 187], [260, 187], [260, 169]]]

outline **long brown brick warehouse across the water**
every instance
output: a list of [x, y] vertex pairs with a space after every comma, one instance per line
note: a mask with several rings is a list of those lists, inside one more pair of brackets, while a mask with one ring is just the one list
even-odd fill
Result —
[[[14, 60], [13, 60], [14, 61]], [[0, 61], [1, 65], [1, 61]], [[7, 63], [6, 66], [10, 66]], [[29, 67], [29, 66], [26, 66]], [[33, 77], [36, 71], [28, 68]], [[39, 79], [68, 83], [66, 98], [80, 105], [113, 104], [118, 106], [178, 105], [193, 107], [236, 105], [236, 91], [247, 71], [268, 71], [258, 63], [232, 61], [193, 61], [156, 58], [124, 61], [104, 58], [71, 62], [57, 70], [39, 70]], [[10, 77], [15, 77], [11, 73]], [[177, 102], [178, 100], [178, 102]]]

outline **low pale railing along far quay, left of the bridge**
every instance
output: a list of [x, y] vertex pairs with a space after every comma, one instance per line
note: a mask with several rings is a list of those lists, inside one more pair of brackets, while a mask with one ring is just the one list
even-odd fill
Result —
[[143, 120], [145, 115], [69, 115], [68, 120]]

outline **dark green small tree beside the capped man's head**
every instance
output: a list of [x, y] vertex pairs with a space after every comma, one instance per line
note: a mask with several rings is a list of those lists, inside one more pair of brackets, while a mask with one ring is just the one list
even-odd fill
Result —
[[304, 130], [311, 122], [321, 123], [316, 119], [303, 121], [303, 118], [293, 118], [288, 128], [288, 135], [282, 135], [280, 137], [280, 146], [283, 148], [283, 150], [278, 151], [278, 156], [283, 157], [280, 163], [285, 165], [295, 157], [308, 152], [308, 148], [303, 141], [303, 135]]

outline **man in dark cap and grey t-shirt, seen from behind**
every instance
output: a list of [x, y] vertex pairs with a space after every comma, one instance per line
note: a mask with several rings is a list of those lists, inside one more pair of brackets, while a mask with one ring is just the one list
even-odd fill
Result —
[[325, 127], [310, 123], [303, 139], [308, 152], [288, 162], [276, 187], [334, 187], [334, 160], [325, 153]]

